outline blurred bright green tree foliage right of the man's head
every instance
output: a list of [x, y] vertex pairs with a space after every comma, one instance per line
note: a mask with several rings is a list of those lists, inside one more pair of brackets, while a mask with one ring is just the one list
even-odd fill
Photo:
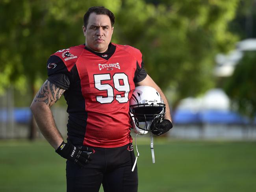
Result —
[[[123, 1], [117, 15], [118, 38], [143, 53], [148, 74], [164, 90], [180, 99], [214, 86], [214, 57], [234, 46], [237, 37], [228, 31], [237, 0]], [[124, 14], [125, 13], [125, 14]]]

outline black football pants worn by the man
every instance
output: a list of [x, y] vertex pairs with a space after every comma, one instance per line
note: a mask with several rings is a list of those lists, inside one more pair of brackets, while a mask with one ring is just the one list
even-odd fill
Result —
[[102, 183], [104, 192], [137, 192], [137, 166], [134, 151], [127, 144], [118, 148], [94, 148], [86, 168], [67, 161], [67, 192], [98, 192]]

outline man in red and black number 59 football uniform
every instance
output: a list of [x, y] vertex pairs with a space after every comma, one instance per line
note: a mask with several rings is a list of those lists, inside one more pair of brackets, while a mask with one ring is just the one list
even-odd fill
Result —
[[[105, 7], [85, 13], [85, 44], [59, 50], [48, 59], [48, 79], [31, 109], [46, 140], [67, 159], [67, 191], [137, 191], [137, 167], [130, 136], [129, 99], [135, 86], [160, 92], [166, 103], [160, 135], [171, 129], [167, 100], [143, 68], [141, 52], [111, 43], [115, 17]], [[67, 143], [50, 107], [64, 94], [69, 120]]]

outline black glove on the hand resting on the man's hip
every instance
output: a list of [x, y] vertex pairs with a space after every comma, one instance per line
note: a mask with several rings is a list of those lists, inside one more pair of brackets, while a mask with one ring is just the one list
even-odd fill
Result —
[[65, 143], [64, 141], [56, 150], [56, 153], [61, 157], [73, 161], [81, 168], [83, 168], [88, 161], [91, 161], [90, 155], [94, 152], [95, 151], [92, 148], [86, 146], [75, 147], [73, 144]]

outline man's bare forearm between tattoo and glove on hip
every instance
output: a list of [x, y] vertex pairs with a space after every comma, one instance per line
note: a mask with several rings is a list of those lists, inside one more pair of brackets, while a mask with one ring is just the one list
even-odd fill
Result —
[[63, 142], [63, 137], [56, 127], [50, 107], [43, 103], [32, 103], [31, 111], [43, 136], [57, 149]]

